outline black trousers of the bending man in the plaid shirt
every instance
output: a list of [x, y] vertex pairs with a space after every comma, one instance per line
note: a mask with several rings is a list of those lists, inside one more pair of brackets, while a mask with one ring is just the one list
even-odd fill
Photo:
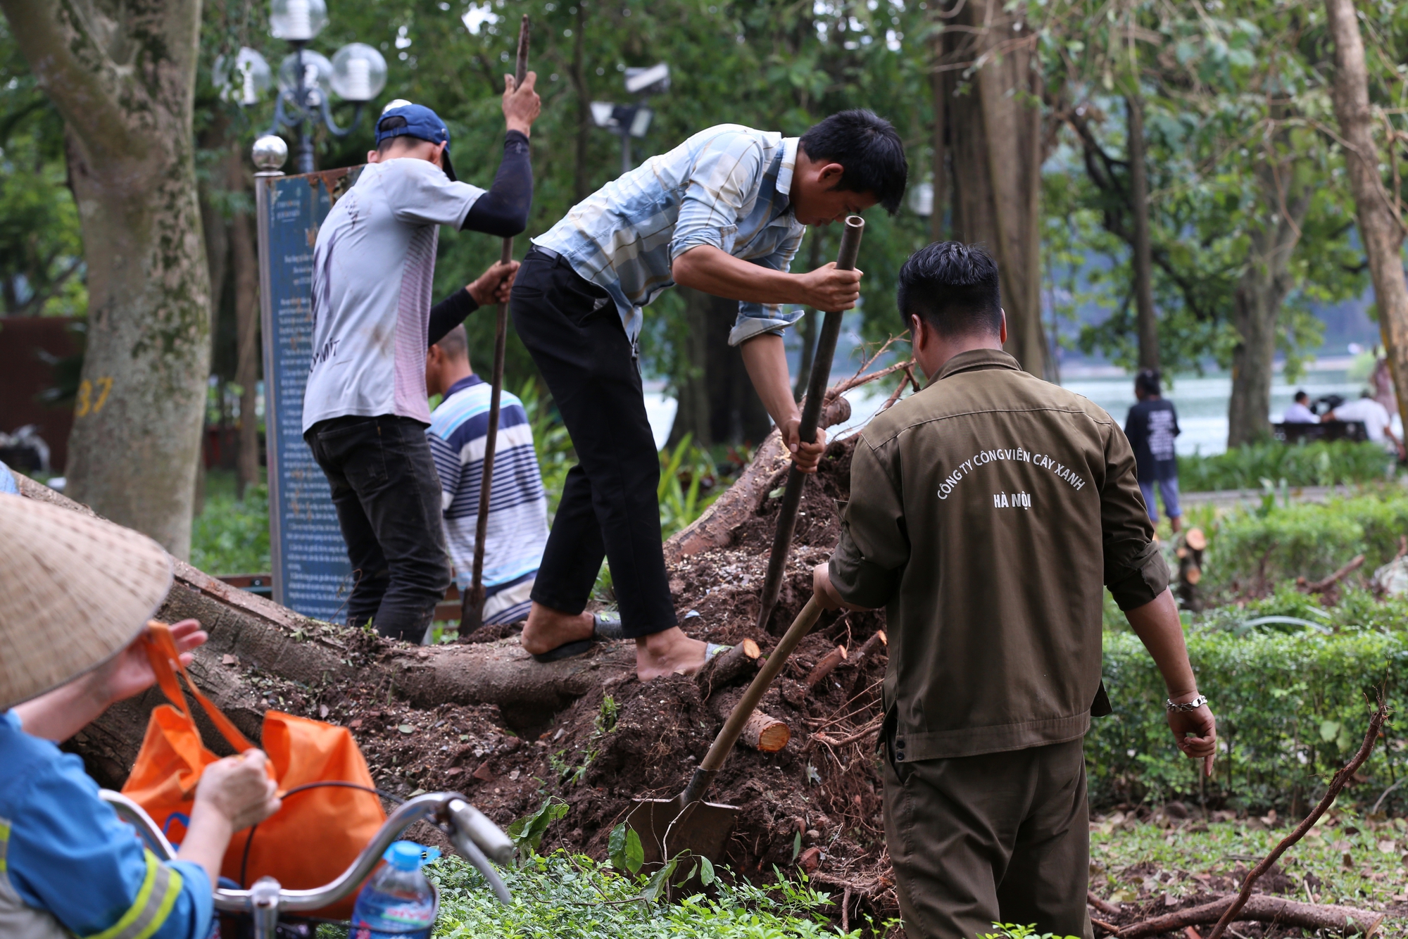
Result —
[[577, 450], [532, 598], [582, 612], [604, 556], [625, 635], [669, 629], [676, 619], [660, 546], [660, 458], [617, 307], [566, 260], [538, 249], [518, 269], [510, 304]]

